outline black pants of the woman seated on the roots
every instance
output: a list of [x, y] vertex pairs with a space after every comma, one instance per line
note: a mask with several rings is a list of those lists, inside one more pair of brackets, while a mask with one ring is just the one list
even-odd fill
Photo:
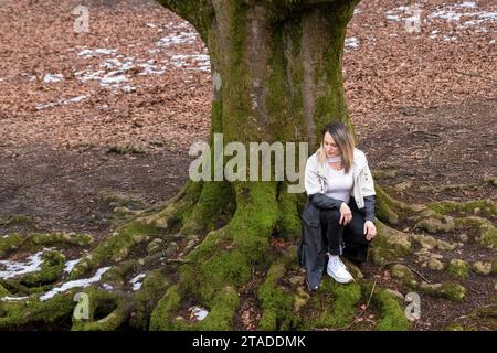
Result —
[[364, 234], [364, 215], [359, 211], [351, 197], [348, 204], [352, 212], [352, 221], [340, 225], [339, 210], [320, 210], [322, 236], [326, 248], [331, 255], [343, 255], [350, 260], [361, 264], [368, 255], [369, 243]]

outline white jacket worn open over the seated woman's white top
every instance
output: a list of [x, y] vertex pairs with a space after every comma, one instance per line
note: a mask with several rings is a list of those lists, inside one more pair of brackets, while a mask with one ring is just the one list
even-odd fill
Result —
[[[330, 183], [326, 168], [326, 163], [318, 162], [317, 152], [307, 159], [304, 186], [308, 196], [316, 193], [326, 193], [327, 185]], [[353, 149], [351, 172], [353, 173], [353, 186], [350, 195], [356, 200], [358, 208], [362, 208], [364, 207], [363, 197], [376, 195], [376, 192], [366, 154], [357, 148]]]

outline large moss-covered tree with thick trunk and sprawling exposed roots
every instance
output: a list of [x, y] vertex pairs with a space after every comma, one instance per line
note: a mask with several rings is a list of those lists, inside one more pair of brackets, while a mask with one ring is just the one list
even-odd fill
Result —
[[[159, 2], [194, 25], [209, 49], [213, 82], [211, 145], [214, 135], [222, 133], [224, 145], [309, 142], [313, 151], [326, 124], [343, 121], [351, 126], [341, 66], [346, 28], [358, 0]], [[212, 158], [211, 162], [215, 164]], [[377, 329], [409, 328], [398, 299], [369, 279], [337, 286], [325, 278], [319, 293], [309, 298], [295, 246], [305, 194], [289, 193], [287, 186], [287, 180], [276, 178], [189, 181], [159, 210], [131, 212], [133, 220], [96, 244], [71, 270], [70, 279], [81, 279], [101, 268], [96, 275], [103, 274], [102, 280], [110, 285], [85, 289], [87, 297], [77, 296], [82, 301], [72, 328], [112, 330], [126, 323], [152, 330], [240, 328], [237, 311], [246, 298], [255, 300], [252, 304], [261, 312], [255, 319], [260, 329], [348, 328], [362, 300], [371, 300], [378, 311]], [[495, 214], [495, 203], [426, 207], [405, 205], [380, 188], [377, 191], [377, 216], [382, 221], [405, 221], [433, 233], [470, 224], [480, 229], [478, 242], [497, 246], [496, 231], [487, 221], [466, 217], [454, 223], [445, 215], [475, 206]], [[406, 234], [381, 222], [378, 228], [371, 252], [374, 264], [392, 264], [409, 253], [411, 238]], [[272, 244], [273, 237], [285, 239], [286, 246]], [[424, 237], [417, 240], [427, 242]], [[450, 246], [430, 242], [430, 246]], [[0, 256], [49, 244], [86, 247], [92, 246], [92, 237], [11, 235], [0, 238]], [[32, 322], [53, 325], [71, 318], [73, 297], [81, 289], [64, 291], [57, 287], [46, 292], [63, 277], [64, 257], [57, 252], [43, 256], [40, 272], [0, 281], [0, 298], [18, 297], [0, 301], [0, 328]], [[142, 287], [126, 291], [129, 278], [140, 272], [146, 274]], [[404, 276], [409, 288], [454, 300], [464, 296], [461, 286], [416, 287], [412, 276]], [[31, 299], [22, 300], [21, 296]], [[184, 318], [187, 306], [192, 303], [208, 308], [205, 320], [194, 323]]]

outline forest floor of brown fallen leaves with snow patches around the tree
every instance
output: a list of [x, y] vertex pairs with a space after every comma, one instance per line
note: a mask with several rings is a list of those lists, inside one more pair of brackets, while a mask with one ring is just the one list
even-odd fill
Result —
[[[154, 1], [95, 0], [85, 1], [89, 31], [77, 33], [80, 2], [0, 1], [0, 235], [102, 238], [113, 227], [105, 192], [160, 205], [188, 179], [189, 147], [208, 137], [211, 77], [194, 30]], [[343, 71], [359, 148], [405, 203], [496, 201], [497, 6], [419, 6], [420, 32], [405, 30], [410, 14], [393, 0], [363, 1], [349, 24]], [[9, 222], [15, 215], [30, 222]], [[443, 256], [491, 261], [495, 252]], [[387, 268], [363, 274], [395, 288]], [[463, 303], [423, 297], [415, 329], [464, 324], [491, 304], [495, 277], [472, 271], [465, 287]]]

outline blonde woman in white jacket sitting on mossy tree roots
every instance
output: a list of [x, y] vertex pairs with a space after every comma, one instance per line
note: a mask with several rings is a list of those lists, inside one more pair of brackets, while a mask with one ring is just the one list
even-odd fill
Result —
[[345, 124], [324, 129], [321, 147], [307, 160], [305, 189], [299, 261], [306, 267], [309, 290], [319, 288], [325, 266], [337, 282], [348, 284], [353, 278], [340, 256], [366, 261], [377, 228], [371, 171]]

